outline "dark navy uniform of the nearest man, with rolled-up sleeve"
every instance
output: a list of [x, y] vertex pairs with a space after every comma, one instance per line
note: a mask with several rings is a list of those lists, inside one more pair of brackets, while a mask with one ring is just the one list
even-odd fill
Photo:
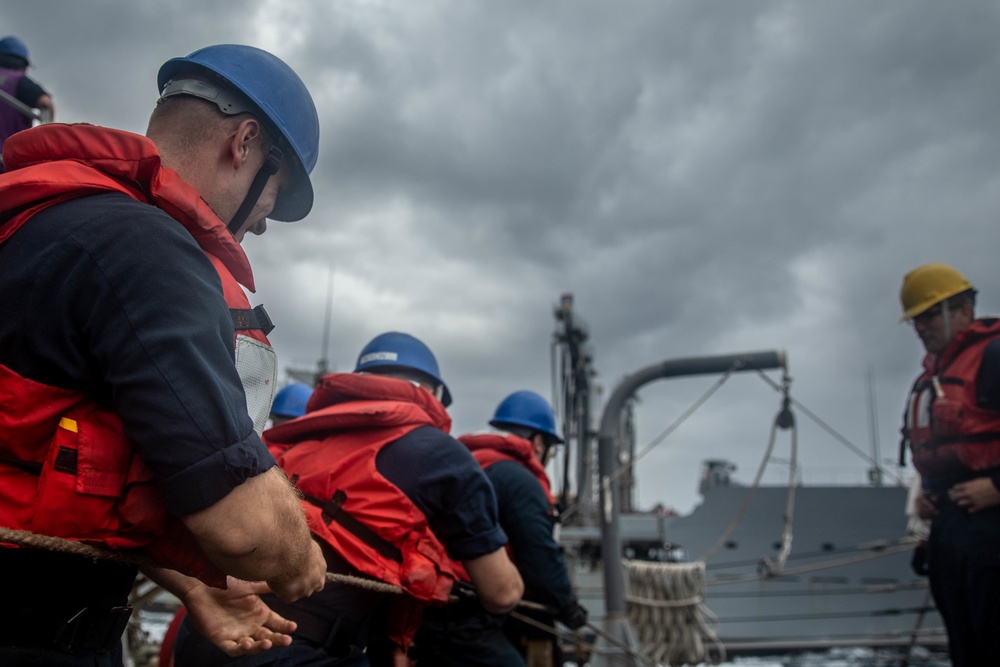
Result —
[[[0, 363], [111, 406], [173, 514], [202, 510], [274, 465], [247, 415], [218, 274], [163, 211], [118, 194], [43, 211], [0, 244], [0, 312]], [[49, 652], [9, 647], [31, 646], [83, 608], [126, 605], [136, 573], [8, 548], [0, 570], [5, 666], [54, 664]], [[66, 660], [119, 665], [120, 647]]]

